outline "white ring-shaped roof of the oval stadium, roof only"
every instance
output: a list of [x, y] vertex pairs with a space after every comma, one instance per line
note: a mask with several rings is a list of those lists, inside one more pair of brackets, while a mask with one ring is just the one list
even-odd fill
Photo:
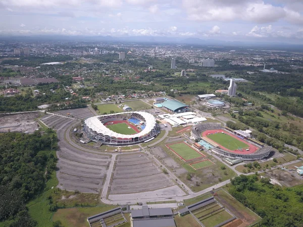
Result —
[[100, 121], [99, 121], [99, 117], [105, 117], [105, 116], [115, 116], [115, 115], [123, 115], [124, 113], [120, 112], [120, 113], [113, 113], [111, 115], [102, 115], [102, 116], [94, 116], [91, 118], [88, 118], [84, 121], [84, 123], [93, 131], [97, 132], [97, 133], [102, 133], [105, 136], [110, 136], [110, 137], [116, 137], [116, 138], [135, 138], [135, 137], [140, 137], [140, 136], [144, 136], [146, 134], [148, 134], [152, 129], [154, 129], [154, 127], [156, 126], [156, 119], [153, 115], [151, 115], [148, 112], [137, 112], [137, 111], [133, 111], [133, 112], [125, 112], [127, 114], [129, 113], [137, 113], [138, 115], [141, 115], [146, 122], [146, 126], [145, 128], [137, 133], [137, 134], [133, 134], [133, 135], [124, 135], [124, 134], [120, 134], [120, 133], [116, 133], [111, 131], [110, 129], [108, 129], [106, 126], [104, 126]]

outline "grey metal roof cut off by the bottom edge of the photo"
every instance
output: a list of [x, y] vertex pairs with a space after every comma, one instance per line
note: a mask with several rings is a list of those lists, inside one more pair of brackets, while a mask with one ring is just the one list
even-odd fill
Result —
[[175, 226], [176, 224], [173, 217], [133, 220], [133, 227], [175, 227]]

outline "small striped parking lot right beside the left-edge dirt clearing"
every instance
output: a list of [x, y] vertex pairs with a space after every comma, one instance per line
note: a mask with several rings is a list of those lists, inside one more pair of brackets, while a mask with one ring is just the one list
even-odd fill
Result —
[[47, 127], [59, 130], [66, 129], [67, 126], [76, 123], [75, 120], [70, 118], [63, 118], [56, 115], [45, 115], [40, 119]]

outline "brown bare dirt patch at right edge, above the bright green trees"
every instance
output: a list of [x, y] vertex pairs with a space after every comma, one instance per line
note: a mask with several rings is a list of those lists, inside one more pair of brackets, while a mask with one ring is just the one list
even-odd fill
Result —
[[266, 174], [266, 177], [277, 180], [285, 187], [293, 187], [303, 183], [303, 178], [298, 176], [296, 172], [283, 171], [282, 169], [275, 169]]

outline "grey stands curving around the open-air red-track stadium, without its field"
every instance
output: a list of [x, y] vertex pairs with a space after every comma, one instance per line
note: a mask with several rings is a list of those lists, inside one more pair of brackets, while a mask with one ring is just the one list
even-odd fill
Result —
[[248, 152], [232, 152], [227, 149], [223, 149], [222, 147], [220, 148], [219, 146], [216, 146], [216, 143], [213, 141], [209, 140], [208, 138], [202, 138], [201, 134], [207, 130], [212, 130], [212, 129], [223, 129], [223, 130], [228, 130], [230, 129], [225, 129], [222, 128], [220, 123], [202, 123], [199, 125], [195, 125], [191, 128], [191, 136], [193, 136], [195, 139], [199, 140], [198, 144], [203, 146], [205, 149], [211, 150], [212, 152], [223, 156], [225, 158], [231, 158], [231, 159], [238, 159], [240, 158], [241, 160], [256, 160], [256, 159], [262, 159], [267, 157], [271, 150], [272, 147], [265, 146], [259, 141], [247, 138], [247, 142], [249, 143], [254, 143], [259, 149], [257, 149], [255, 152], [248, 153]]

